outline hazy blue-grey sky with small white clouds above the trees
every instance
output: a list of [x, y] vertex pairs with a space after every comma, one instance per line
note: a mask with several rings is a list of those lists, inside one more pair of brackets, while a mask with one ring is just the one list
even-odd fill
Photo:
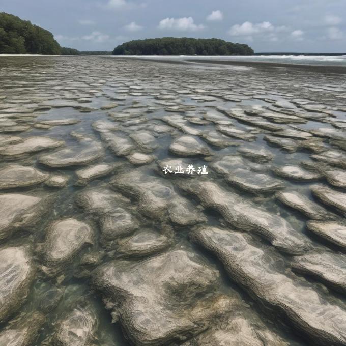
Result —
[[346, 0], [0, 0], [0, 11], [79, 50], [172, 36], [216, 37], [256, 52], [346, 51]]

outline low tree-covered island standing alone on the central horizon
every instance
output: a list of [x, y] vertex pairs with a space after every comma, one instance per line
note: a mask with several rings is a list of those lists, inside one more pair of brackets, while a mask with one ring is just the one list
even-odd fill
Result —
[[163, 37], [125, 42], [113, 55], [252, 55], [247, 44], [220, 39]]

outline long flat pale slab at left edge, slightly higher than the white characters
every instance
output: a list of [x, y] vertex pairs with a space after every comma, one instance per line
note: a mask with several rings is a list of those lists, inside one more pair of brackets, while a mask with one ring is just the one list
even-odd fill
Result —
[[64, 144], [61, 140], [48, 137], [28, 137], [18, 143], [0, 148], [0, 156], [20, 156], [30, 154], [46, 149], [57, 148]]

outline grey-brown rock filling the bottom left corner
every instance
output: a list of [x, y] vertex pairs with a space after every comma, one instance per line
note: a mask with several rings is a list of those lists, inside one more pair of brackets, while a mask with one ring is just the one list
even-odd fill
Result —
[[25, 314], [0, 333], [0, 344], [4, 346], [34, 345], [44, 322], [44, 315], [39, 312]]

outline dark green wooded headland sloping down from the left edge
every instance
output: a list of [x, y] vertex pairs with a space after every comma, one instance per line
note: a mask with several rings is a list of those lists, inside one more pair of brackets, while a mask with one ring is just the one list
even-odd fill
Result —
[[0, 54], [61, 54], [61, 47], [49, 31], [0, 12]]

